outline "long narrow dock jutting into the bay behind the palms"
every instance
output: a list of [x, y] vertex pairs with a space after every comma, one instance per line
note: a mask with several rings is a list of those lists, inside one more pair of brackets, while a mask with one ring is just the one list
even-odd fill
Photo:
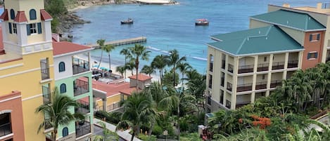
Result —
[[[146, 37], [145, 36], [139, 36], [136, 38], [130, 38], [130, 39], [122, 39], [122, 40], [117, 40], [117, 41], [107, 41], [104, 43], [104, 45], [113, 45], [113, 46], [122, 46], [122, 45], [127, 45], [127, 44], [132, 44], [132, 43], [145, 43], [146, 42]], [[99, 44], [89, 44], [87, 46], [93, 47], [93, 48], [100, 48]]]

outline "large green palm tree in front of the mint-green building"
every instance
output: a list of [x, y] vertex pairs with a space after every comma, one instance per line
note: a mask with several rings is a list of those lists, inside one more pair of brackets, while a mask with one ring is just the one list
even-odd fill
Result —
[[72, 100], [67, 95], [61, 95], [58, 88], [55, 87], [51, 97], [51, 103], [40, 105], [35, 111], [36, 113], [42, 112], [47, 118], [39, 125], [37, 133], [44, 126], [50, 125], [53, 128], [51, 130], [51, 140], [55, 141], [58, 126], [67, 126], [71, 121], [84, 118], [80, 113], [71, 114], [70, 109], [78, 106], [79, 104], [75, 100]]

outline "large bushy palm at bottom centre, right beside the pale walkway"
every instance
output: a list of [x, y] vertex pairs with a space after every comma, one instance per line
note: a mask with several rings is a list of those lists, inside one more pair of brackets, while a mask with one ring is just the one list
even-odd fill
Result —
[[132, 141], [134, 135], [139, 134], [140, 127], [153, 119], [156, 111], [153, 108], [153, 103], [146, 98], [146, 95], [141, 95], [140, 93], [133, 93], [132, 96], [124, 101], [123, 107], [125, 109], [120, 122], [116, 126], [116, 130], [132, 127]]

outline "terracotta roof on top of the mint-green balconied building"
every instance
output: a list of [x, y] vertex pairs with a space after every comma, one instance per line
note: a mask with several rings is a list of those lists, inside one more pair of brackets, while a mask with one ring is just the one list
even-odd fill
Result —
[[85, 49], [89, 49], [89, 46], [83, 46], [77, 43], [70, 43], [68, 41], [53, 41], [53, 55], [61, 55], [65, 53], [72, 53], [75, 51], [82, 51]]

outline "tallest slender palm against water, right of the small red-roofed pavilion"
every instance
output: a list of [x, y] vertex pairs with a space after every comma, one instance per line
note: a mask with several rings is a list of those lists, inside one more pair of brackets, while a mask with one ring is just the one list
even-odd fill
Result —
[[[177, 65], [179, 65], [180, 63], [186, 61], [186, 57], [179, 57], [179, 53], [177, 52], [177, 50], [172, 50], [169, 51], [170, 55], [167, 58], [167, 65], [170, 67], [172, 66], [172, 71], [173, 73], [173, 80], [175, 80], [175, 73], [177, 70]], [[175, 81], [173, 81], [173, 87], [175, 87]]]

